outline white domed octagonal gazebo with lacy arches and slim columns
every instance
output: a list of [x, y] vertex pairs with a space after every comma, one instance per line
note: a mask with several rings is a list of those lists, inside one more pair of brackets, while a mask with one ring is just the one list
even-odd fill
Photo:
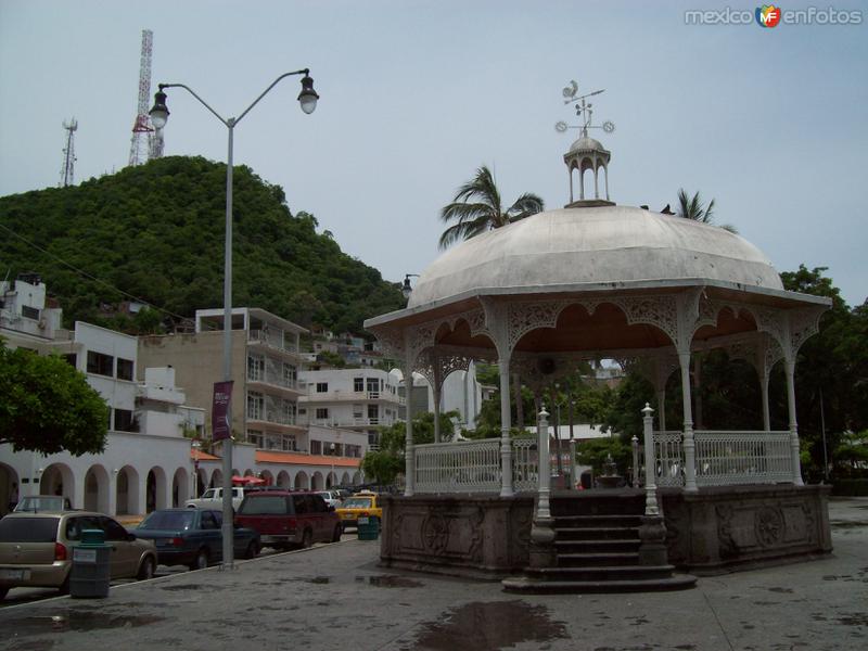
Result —
[[[636, 365], [658, 391], [658, 426], [649, 433], [647, 445], [653, 452], [650, 467], [654, 472], [648, 473], [647, 482], [654, 487], [652, 497], [656, 499], [658, 487], [669, 488], [671, 497], [680, 500], [677, 507], [673, 502], [675, 512], [685, 503], [693, 503], [691, 495], [723, 499], [720, 487], [742, 486], [737, 497], [732, 497], [731, 488], [727, 495], [736, 501], [754, 495], [758, 501], [749, 509], [750, 518], [770, 519], [771, 525], [779, 525], [771, 527], [777, 533], [764, 547], [769, 558], [828, 547], [828, 531], [824, 536], [822, 531], [817, 533], [816, 527], [805, 524], [826, 522], [815, 512], [825, 510], [825, 493], [808, 492], [810, 503], [804, 508], [810, 514], [804, 515], [807, 511], [801, 505], [807, 498], [792, 489], [803, 486], [793, 385], [796, 354], [817, 332], [830, 302], [784, 291], [766, 256], [732, 232], [608, 201], [610, 157], [599, 141], [584, 133], [564, 156], [571, 194], [573, 173], [577, 170], [582, 199], [451, 248], [424, 270], [406, 309], [366, 321], [366, 328], [383, 347], [401, 360], [405, 376], [420, 372], [435, 392], [451, 371], [465, 368], [471, 359], [496, 361], [500, 369], [499, 438], [441, 443], [437, 437], [437, 443], [417, 446], [408, 404], [406, 492], [404, 498], [392, 501], [394, 518], [387, 518], [386, 524], [406, 527], [416, 519], [420, 532], [411, 536], [406, 531], [387, 529], [385, 561], [405, 560], [418, 565], [424, 559], [425, 565], [469, 564], [487, 571], [514, 571], [515, 563], [521, 565], [526, 560], [521, 550], [521, 558], [511, 557], [508, 550], [498, 560], [469, 542], [474, 539], [474, 527], [492, 533], [495, 525], [486, 524], [486, 519], [493, 510], [518, 509], [524, 513], [529, 502], [515, 505], [522, 497], [537, 495], [540, 476], [548, 474], [537, 468], [536, 447], [527, 439], [513, 441], [510, 436], [511, 382], [539, 391], [574, 372], [577, 361], [600, 358]], [[601, 168], [607, 175], [605, 200], [599, 199], [597, 175]], [[587, 170], [595, 178], [595, 199], [589, 200], [584, 199]], [[725, 348], [730, 358], [743, 358], [755, 366], [763, 401], [762, 429], [760, 423], [752, 432], [694, 429], [691, 359], [712, 348]], [[771, 368], [779, 361], [783, 362], [787, 382], [789, 429], [773, 432], [768, 382]], [[681, 371], [684, 427], [673, 432], [663, 422], [662, 406], [666, 380], [676, 369]], [[802, 509], [797, 522], [788, 520], [792, 509], [787, 505], [791, 502], [768, 497], [768, 490], [778, 495], [774, 490], [783, 485], [789, 488], [787, 499]], [[757, 486], [764, 486], [766, 493], [756, 494]], [[467, 527], [465, 509], [457, 507], [456, 512], [461, 513], [457, 520], [445, 514], [443, 500], [460, 507], [455, 496], [463, 496], [464, 503], [471, 497], [473, 501], [487, 496], [484, 505], [473, 502], [473, 509], [482, 509], [473, 511], [472, 518], [480, 521], [474, 527]], [[664, 503], [667, 499], [664, 496]], [[537, 519], [539, 501], [537, 496]], [[709, 502], [700, 501], [707, 510]], [[727, 503], [738, 511], [733, 503]], [[505, 542], [510, 549], [524, 545], [526, 550], [528, 539], [522, 526], [526, 525], [529, 533], [529, 521], [513, 515], [507, 516], [511, 524], [499, 535], [511, 540]], [[668, 522], [669, 513], [666, 518]], [[804, 536], [788, 539], [795, 529]], [[451, 550], [450, 538], [458, 545]], [[436, 542], [433, 546], [432, 540]], [[684, 540], [677, 545], [681, 544], [691, 545]], [[669, 556], [674, 552], [678, 557], [677, 545], [669, 544]], [[736, 540], [730, 547], [740, 545]], [[753, 550], [756, 546], [744, 541], [742, 547]], [[489, 551], [495, 557], [498, 553]], [[689, 553], [676, 560], [684, 560], [687, 566], [700, 563]]]

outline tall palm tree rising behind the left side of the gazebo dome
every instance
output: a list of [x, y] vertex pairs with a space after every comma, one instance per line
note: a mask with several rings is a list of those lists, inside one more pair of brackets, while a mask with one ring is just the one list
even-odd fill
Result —
[[452, 203], [441, 210], [444, 222], [457, 224], [443, 231], [439, 246], [447, 248], [459, 240], [468, 240], [487, 230], [507, 226], [542, 209], [544, 204], [539, 196], [524, 193], [503, 210], [492, 170], [483, 165], [473, 179], [458, 189]]

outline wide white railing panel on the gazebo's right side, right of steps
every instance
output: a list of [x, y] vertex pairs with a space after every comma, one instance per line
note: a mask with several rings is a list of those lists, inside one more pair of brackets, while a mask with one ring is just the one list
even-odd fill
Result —
[[792, 482], [789, 432], [694, 432], [697, 484], [777, 484]]

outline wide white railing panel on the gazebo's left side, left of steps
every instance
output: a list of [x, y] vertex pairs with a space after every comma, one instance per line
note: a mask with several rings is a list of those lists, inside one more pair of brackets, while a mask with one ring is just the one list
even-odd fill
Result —
[[417, 493], [499, 493], [500, 439], [429, 443], [413, 448]]

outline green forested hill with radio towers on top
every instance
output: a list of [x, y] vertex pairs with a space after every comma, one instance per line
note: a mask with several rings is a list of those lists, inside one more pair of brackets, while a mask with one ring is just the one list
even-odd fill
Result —
[[[129, 299], [112, 288], [192, 317], [222, 306], [225, 201], [226, 165], [181, 156], [0, 197], [0, 278], [40, 273], [67, 322], [136, 330], [104, 316], [103, 305]], [[404, 306], [396, 284], [317, 226], [290, 212], [279, 186], [235, 168], [233, 304], [356, 333], [365, 318]]]

